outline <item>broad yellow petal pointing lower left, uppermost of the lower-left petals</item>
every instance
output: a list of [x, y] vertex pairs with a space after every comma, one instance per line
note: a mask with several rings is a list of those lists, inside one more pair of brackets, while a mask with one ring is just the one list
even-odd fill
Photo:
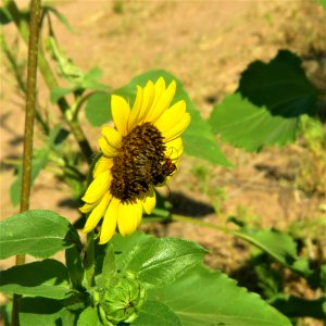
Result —
[[110, 171], [100, 173], [88, 186], [86, 193], [82, 199], [87, 203], [98, 201], [106, 191], [109, 191], [111, 179], [112, 176]]

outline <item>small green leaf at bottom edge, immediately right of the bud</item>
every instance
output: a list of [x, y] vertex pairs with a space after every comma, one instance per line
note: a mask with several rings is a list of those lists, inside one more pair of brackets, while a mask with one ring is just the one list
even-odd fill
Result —
[[159, 301], [148, 300], [140, 309], [139, 317], [133, 326], [181, 326], [183, 323], [174, 311], [166, 304]]

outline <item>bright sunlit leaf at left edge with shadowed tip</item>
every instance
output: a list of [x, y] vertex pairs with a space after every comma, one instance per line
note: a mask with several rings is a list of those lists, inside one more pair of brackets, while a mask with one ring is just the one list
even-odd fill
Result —
[[52, 211], [27, 211], [0, 222], [0, 259], [15, 254], [48, 258], [78, 242], [70, 222]]

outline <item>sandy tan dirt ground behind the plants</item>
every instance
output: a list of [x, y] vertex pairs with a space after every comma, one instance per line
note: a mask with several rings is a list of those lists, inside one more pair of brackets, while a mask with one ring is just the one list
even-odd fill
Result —
[[[99, 66], [104, 73], [102, 83], [118, 88], [142, 72], [164, 68], [183, 82], [203, 117], [209, 116], [214, 103], [237, 89], [240, 73], [249, 63], [253, 60], [268, 61], [280, 48], [301, 55], [310, 78], [319, 89], [325, 88], [326, 30], [323, 22], [326, 11], [311, 1], [51, 3], [74, 28], [70, 32], [53, 18], [59, 43], [83, 71]], [[26, 2], [18, 1], [18, 4], [24, 8]], [[3, 29], [13, 46], [15, 29], [10, 25]], [[25, 46], [18, 42], [15, 47], [17, 55], [24, 58]], [[317, 60], [316, 53], [322, 53], [324, 61]], [[11, 163], [22, 155], [24, 102], [14, 87], [14, 79], [2, 57], [1, 218], [18, 212], [18, 208], [11, 204], [9, 189], [14, 180]], [[49, 102], [41, 78], [39, 100]], [[51, 112], [57, 110], [49, 108]], [[53, 116], [57, 114], [53, 113]], [[97, 149], [99, 129], [91, 128], [86, 120], [83, 128]], [[40, 133], [36, 130], [36, 146], [39, 137]], [[298, 225], [310, 225], [306, 234], [301, 234], [312, 243], [317, 239], [309, 254], [325, 260], [325, 224], [321, 228], [317, 223], [321, 216], [325, 218], [325, 211], [321, 210], [325, 204], [325, 192], [308, 193], [298, 187], [300, 170], [305, 168], [301, 164], [302, 156], [310, 155], [300, 141], [281, 150], [266, 149], [260, 154], [248, 154], [225, 143], [221, 147], [236, 167], [228, 170], [184, 158], [179, 173], [170, 185], [174, 212], [220, 225], [224, 225], [231, 215], [252, 227], [289, 230], [298, 228]], [[313, 159], [309, 164], [314, 165]], [[312, 170], [312, 174], [318, 173]], [[316, 177], [322, 179], [325, 175]], [[163, 192], [168, 191], [163, 189]], [[30, 208], [54, 210], [74, 222], [78, 213], [71, 197], [68, 186], [58, 181], [50, 171], [43, 171], [33, 188]], [[158, 226], [154, 231], [199, 241], [211, 251], [206, 263], [231, 275], [237, 275], [250, 256], [248, 246], [238, 239], [191, 224], [173, 223]], [[12, 262], [0, 262], [0, 267]], [[316, 296], [300, 286], [296, 291], [306, 298]], [[304, 321], [301, 325], [322, 324]]]

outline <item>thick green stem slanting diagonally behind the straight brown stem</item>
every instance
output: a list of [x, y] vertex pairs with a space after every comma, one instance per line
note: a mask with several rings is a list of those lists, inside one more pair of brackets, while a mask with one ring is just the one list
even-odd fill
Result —
[[[28, 26], [26, 22], [22, 18], [22, 15], [20, 13], [20, 10], [16, 5], [16, 3], [12, 0], [4, 0], [4, 8], [10, 13], [11, 17], [13, 18], [15, 25], [18, 28], [18, 32], [22, 36], [22, 38], [27, 42], [28, 40]], [[46, 60], [45, 54], [39, 51], [38, 54], [38, 67], [42, 74], [42, 77], [49, 87], [49, 89], [54, 89], [59, 87], [59, 84], [55, 79], [55, 76], [51, 70], [51, 66], [49, 65], [48, 61]], [[88, 140], [86, 139], [83, 129], [79, 126], [79, 123], [77, 121], [73, 121], [73, 114], [71, 112], [71, 106], [66, 99], [62, 97], [58, 100], [58, 105], [60, 111], [62, 112], [66, 124], [70, 126], [70, 129], [72, 130], [72, 134], [74, 135], [75, 139], [77, 140], [79, 148], [82, 152], [84, 153], [85, 159], [90, 164], [91, 158], [92, 158], [92, 150], [89, 146]]]

